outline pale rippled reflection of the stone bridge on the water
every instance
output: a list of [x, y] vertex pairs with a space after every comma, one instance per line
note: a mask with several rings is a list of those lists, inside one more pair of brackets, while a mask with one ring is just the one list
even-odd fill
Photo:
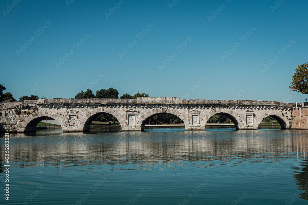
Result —
[[[109, 136], [115, 137], [120, 135], [122, 140], [112, 140], [110, 143], [102, 141], [97, 143], [95, 138], [84, 140], [82, 144], [73, 144], [70, 139], [61, 138], [53, 141], [53, 145], [46, 147], [42, 142], [35, 138], [33, 141], [27, 140], [20, 144], [11, 144], [13, 150], [19, 151], [21, 158], [40, 159], [43, 163], [45, 160], [50, 161], [51, 155], [59, 155], [70, 157], [67, 153], [74, 152], [75, 154], [91, 153], [90, 158], [96, 162], [113, 161], [125, 162], [130, 156], [137, 157], [143, 163], [148, 161], [155, 162], [173, 162], [179, 160], [214, 160], [215, 157], [249, 157], [249, 158], [269, 158], [268, 154], [283, 153], [284, 155], [294, 155], [306, 157], [308, 151], [308, 133], [290, 132], [289, 137], [280, 136], [279, 132], [275, 132], [270, 136], [261, 136], [259, 130], [249, 131], [249, 137], [245, 130], [234, 131], [236, 135], [243, 137], [221, 137], [221, 133], [210, 131], [212, 136], [209, 138], [198, 137], [201, 131], [178, 132], [177, 138], [167, 141], [150, 139], [147, 136], [142, 136], [141, 133], [110, 133]], [[207, 131], [205, 131], [207, 133]], [[156, 133], [157, 134], [157, 133]], [[12, 135], [15, 137], [24, 137], [26, 135], [17, 133]], [[63, 133], [62, 135], [72, 135]], [[75, 137], [84, 136], [82, 133], [74, 133]], [[59, 138], [61, 137], [58, 136]], [[28, 143], [27, 143], [28, 142]], [[17, 146], [17, 147], [16, 147]], [[293, 153], [293, 154], [291, 154]], [[12, 153], [14, 155], [14, 153]], [[83, 160], [75, 156], [72, 160]]]

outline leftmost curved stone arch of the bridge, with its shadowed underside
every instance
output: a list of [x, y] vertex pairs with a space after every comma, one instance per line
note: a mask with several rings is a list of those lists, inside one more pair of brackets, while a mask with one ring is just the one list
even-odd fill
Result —
[[67, 123], [65, 122], [63, 117], [60, 114], [51, 111], [38, 111], [28, 115], [20, 123], [19, 131], [23, 132], [35, 131], [36, 125], [46, 117], [51, 117], [57, 120], [58, 123], [61, 125], [62, 130], [68, 131]]

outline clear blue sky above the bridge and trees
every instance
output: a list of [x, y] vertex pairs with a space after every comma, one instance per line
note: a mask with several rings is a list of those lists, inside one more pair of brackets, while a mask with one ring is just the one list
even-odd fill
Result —
[[187, 99], [308, 97], [289, 89], [308, 60], [306, 0], [280, 0], [277, 9], [274, 0], [69, 1], [0, 2], [0, 84], [15, 99], [27, 92], [74, 98], [88, 87], [113, 87], [119, 97], [136, 90]]

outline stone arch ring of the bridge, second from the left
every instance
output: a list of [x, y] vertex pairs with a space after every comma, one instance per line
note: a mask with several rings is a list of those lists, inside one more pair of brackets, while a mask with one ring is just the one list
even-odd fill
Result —
[[107, 107], [107, 108], [95, 108], [91, 111], [86, 112], [82, 118], [79, 121], [79, 124], [77, 126], [78, 131], [87, 131], [90, 129], [91, 122], [99, 115], [103, 113], [108, 113], [110, 115], [113, 115], [120, 123], [122, 130], [126, 129], [126, 123], [123, 119], [123, 117], [118, 114], [118, 112], [114, 111], [113, 109]]

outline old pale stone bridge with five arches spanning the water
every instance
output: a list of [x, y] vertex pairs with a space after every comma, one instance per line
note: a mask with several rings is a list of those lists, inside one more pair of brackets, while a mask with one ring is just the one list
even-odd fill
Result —
[[64, 132], [87, 131], [102, 113], [120, 122], [122, 131], [143, 131], [148, 119], [168, 113], [184, 122], [185, 130], [204, 130], [215, 114], [228, 116], [236, 129], [257, 129], [267, 116], [282, 129], [290, 126], [291, 103], [259, 100], [187, 100], [173, 97], [137, 97], [137, 99], [39, 99], [0, 104], [0, 131], [34, 131], [36, 125], [51, 117]]

